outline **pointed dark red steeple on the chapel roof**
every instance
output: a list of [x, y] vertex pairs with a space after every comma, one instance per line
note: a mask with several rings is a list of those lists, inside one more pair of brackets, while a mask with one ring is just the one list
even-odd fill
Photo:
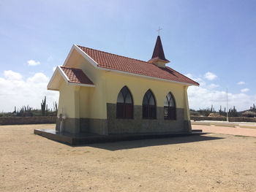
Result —
[[162, 42], [160, 36], [157, 36], [157, 42], [156, 45], [154, 46], [154, 52], [151, 60], [149, 60], [148, 63], [155, 64], [159, 67], [165, 67], [165, 64], [169, 62], [170, 61], [168, 61], [165, 58], [165, 53], [164, 50], [162, 49]]

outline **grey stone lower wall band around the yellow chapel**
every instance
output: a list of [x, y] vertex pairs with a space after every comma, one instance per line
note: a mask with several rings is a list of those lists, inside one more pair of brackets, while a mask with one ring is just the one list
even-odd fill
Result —
[[[60, 121], [56, 120], [59, 131]], [[157, 107], [156, 119], [143, 119], [142, 106], [134, 106], [132, 119], [116, 118], [116, 104], [107, 104], [107, 119], [67, 118], [64, 120], [64, 131], [71, 134], [93, 133], [109, 134], [174, 134], [190, 133], [189, 120], [184, 120], [184, 109], [176, 109], [176, 120], [164, 119], [164, 108]]]

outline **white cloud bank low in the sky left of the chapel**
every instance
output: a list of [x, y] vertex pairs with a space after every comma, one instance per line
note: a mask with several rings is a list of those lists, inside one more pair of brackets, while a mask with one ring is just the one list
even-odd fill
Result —
[[14, 107], [29, 105], [40, 109], [40, 104], [46, 96], [49, 108], [53, 108], [53, 101], [59, 101], [58, 91], [48, 91], [49, 78], [43, 73], [32, 74], [24, 79], [21, 74], [5, 71], [0, 77], [0, 111], [12, 112]]

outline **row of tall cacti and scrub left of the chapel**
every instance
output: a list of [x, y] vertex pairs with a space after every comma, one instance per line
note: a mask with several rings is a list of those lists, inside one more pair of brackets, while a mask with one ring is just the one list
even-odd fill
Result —
[[57, 102], [53, 102], [53, 110], [48, 109], [48, 104], [46, 104], [46, 96], [42, 100], [41, 110], [33, 109], [33, 107], [23, 106], [20, 109], [14, 108], [13, 112], [1, 112], [0, 117], [37, 117], [37, 116], [56, 116], [57, 115]]

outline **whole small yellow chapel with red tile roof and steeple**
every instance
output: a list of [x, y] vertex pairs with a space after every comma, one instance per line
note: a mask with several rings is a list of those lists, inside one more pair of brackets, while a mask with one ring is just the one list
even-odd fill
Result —
[[191, 133], [187, 88], [199, 84], [169, 62], [160, 36], [148, 61], [72, 45], [48, 83], [48, 90], [59, 91], [56, 131]]

